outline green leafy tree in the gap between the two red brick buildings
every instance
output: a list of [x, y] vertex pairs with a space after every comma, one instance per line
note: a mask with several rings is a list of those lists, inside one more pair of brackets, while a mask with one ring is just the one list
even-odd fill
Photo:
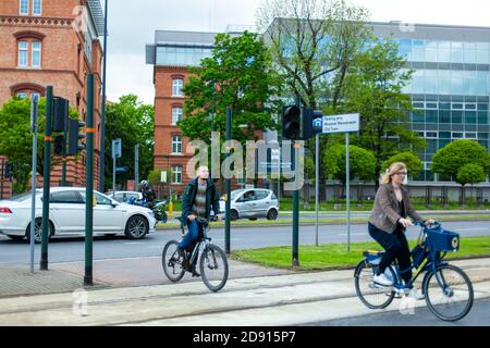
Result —
[[139, 145], [139, 177], [147, 177], [154, 161], [154, 105], [144, 104], [135, 95], [122, 96], [106, 105], [106, 187], [112, 187], [112, 140], [121, 138], [122, 157], [118, 165], [127, 165], [126, 177], [134, 177], [134, 148]]

